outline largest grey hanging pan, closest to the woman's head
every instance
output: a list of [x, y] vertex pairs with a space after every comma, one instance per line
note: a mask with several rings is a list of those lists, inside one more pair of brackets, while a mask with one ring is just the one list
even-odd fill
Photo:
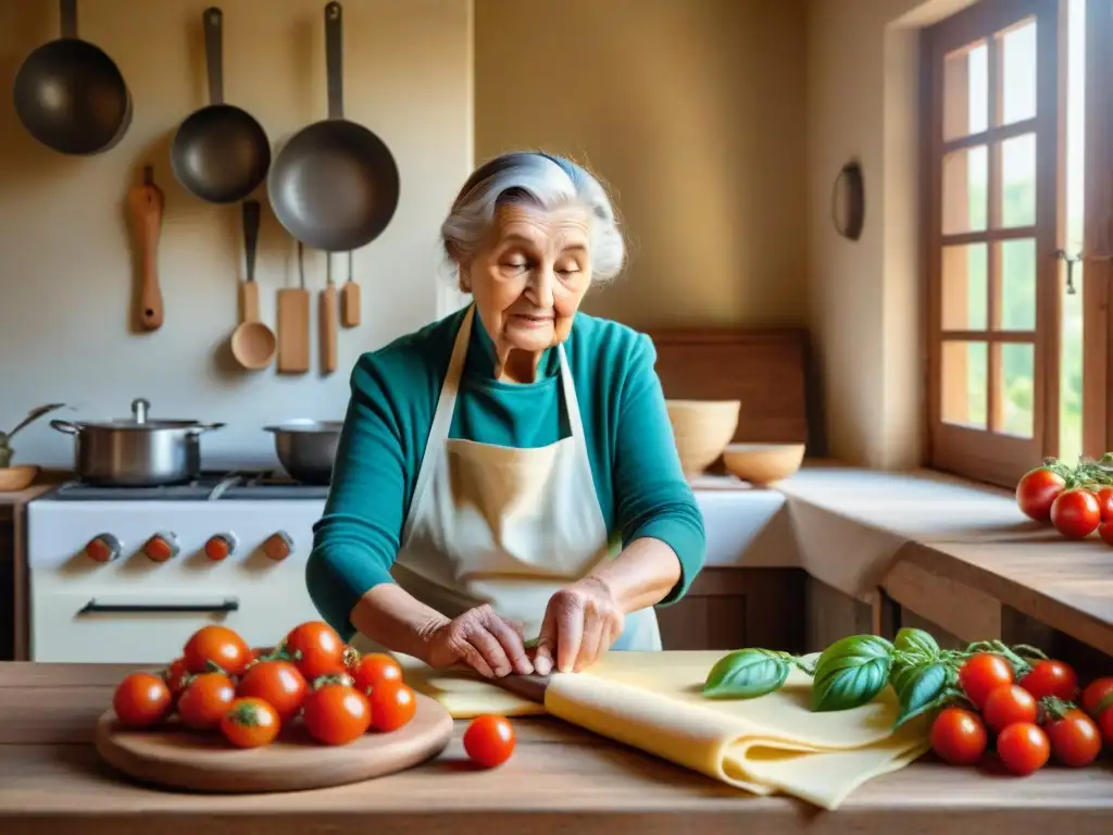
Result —
[[398, 167], [385, 143], [344, 118], [341, 4], [325, 7], [328, 118], [290, 137], [267, 175], [278, 222], [306, 246], [358, 249], [378, 237], [398, 205]]

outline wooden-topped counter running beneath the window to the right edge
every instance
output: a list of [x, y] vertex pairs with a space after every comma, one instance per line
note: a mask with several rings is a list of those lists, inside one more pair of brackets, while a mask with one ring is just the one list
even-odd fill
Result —
[[1012, 610], [1113, 655], [1113, 548], [1033, 522], [1007, 491], [837, 465], [777, 489], [800, 567], [846, 595], [880, 589], [964, 640], [1002, 637]]

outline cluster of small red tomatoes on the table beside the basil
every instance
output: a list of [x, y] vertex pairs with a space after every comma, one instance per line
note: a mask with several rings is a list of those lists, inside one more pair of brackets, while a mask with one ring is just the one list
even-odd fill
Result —
[[932, 747], [946, 763], [982, 760], [991, 735], [1002, 765], [1018, 775], [1043, 768], [1054, 757], [1081, 768], [1097, 759], [1102, 744], [1113, 748], [1113, 678], [1100, 678], [1082, 690], [1066, 664], [1037, 661], [1018, 680], [1002, 656], [979, 652], [958, 669], [965, 707], [944, 708], [932, 725]]

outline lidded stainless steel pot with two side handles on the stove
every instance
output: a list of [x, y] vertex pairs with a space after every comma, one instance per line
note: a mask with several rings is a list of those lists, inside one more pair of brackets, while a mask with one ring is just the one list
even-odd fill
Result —
[[90, 484], [156, 487], [181, 484], [200, 474], [198, 436], [223, 423], [149, 420], [150, 403], [131, 402], [131, 419], [104, 423], [50, 421], [73, 435], [77, 477]]

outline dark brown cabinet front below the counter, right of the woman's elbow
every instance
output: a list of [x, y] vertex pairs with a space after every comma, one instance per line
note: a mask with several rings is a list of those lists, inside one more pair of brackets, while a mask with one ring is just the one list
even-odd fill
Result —
[[658, 607], [664, 649], [804, 651], [807, 574], [796, 568], [705, 568], [684, 598]]

